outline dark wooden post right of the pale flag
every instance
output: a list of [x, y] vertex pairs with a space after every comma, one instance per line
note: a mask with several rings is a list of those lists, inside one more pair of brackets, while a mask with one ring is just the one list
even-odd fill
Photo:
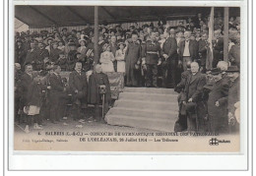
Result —
[[224, 61], [228, 62], [228, 21], [229, 8], [224, 7]]

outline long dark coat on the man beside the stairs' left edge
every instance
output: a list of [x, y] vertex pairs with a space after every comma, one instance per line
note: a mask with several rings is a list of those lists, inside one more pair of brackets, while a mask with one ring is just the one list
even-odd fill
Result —
[[88, 88], [88, 102], [92, 104], [98, 104], [100, 102], [100, 94], [98, 92], [99, 80], [102, 78], [102, 83], [106, 87], [105, 93], [105, 102], [110, 102], [111, 94], [110, 94], [110, 85], [107, 78], [107, 75], [100, 73], [93, 73], [89, 79], [89, 88]]

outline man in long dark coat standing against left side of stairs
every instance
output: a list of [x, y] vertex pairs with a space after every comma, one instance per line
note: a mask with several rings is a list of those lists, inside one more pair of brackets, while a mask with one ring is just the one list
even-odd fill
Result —
[[[98, 121], [103, 121], [103, 119], [99, 116], [99, 104], [103, 94], [104, 94], [103, 112], [104, 114], [106, 114], [106, 112], [108, 111], [108, 105], [111, 101], [110, 85], [109, 85], [107, 76], [102, 73], [101, 66], [97, 64], [95, 66], [94, 73], [89, 78], [88, 102], [95, 104], [95, 107], [96, 107], [95, 118]], [[104, 114], [102, 114], [102, 116]]]

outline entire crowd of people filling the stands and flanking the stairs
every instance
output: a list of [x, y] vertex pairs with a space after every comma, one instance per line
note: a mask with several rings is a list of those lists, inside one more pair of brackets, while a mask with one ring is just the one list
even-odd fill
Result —
[[[240, 68], [240, 25], [234, 17], [230, 18], [229, 53], [224, 58], [222, 14], [215, 18], [211, 42], [208, 22], [209, 16], [198, 14], [188, 18], [186, 25], [180, 22], [177, 27], [169, 27], [164, 21], [157, 27], [153, 23], [141, 28], [135, 24], [129, 29], [100, 25], [97, 54], [90, 25], [82, 30], [17, 32], [16, 117], [29, 117], [28, 132], [30, 116], [34, 128], [40, 129], [43, 117], [50, 117], [52, 123], [66, 117], [66, 104], [71, 104], [74, 120], [81, 120], [87, 104], [92, 103], [96, 105], [95, 118], [100, 120], [98, 105], [102, 94], [105, 113], [111, 99], [105, 73], [119, 72], [124, 75], [126, 87], [175, 88], [180, 93], [176, 130], [226, 129], [228, 120], [232, 124], [237, 122], [234, 103], [238, 107], [239, 94], [230, 97], [229, 93], [239, 89], [236, 82]], [[214, 59], [209, 67], [211, 52]], [[68, 80], [60, 78], [62, 71], [71, 72]], [[236, 91], [230, 92], [232, 89]]]

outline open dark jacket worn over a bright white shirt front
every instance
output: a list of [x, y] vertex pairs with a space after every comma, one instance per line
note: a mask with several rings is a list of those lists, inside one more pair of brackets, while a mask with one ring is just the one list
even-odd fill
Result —
[[[186, 40], [180, 41], [179, 45], [179, 60], [182, 60]], [[189, 53], [192, 61], [198, 59], [198, 42], [196, 40], [189, 40]]]

